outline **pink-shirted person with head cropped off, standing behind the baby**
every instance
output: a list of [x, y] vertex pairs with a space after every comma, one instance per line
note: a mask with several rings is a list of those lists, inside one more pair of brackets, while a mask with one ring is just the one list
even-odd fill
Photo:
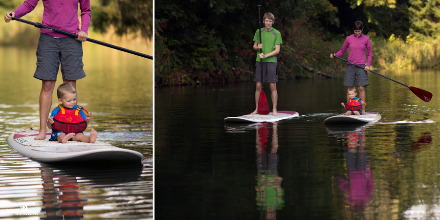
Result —
[[[4, 21], [21, 18], [35, 9], [39, 0], [25, 0], [13, 12], [4, 15]], [[86, 77], [83, 70], [82, 42], [87, 40], [90, 25], [90, 0], [42, 0], [44, 5], [42, 24], [77, 34], [78, 38], [41, 28], [37, 47], [37, 68], [34, 77], [42, 80], [40, 92], [40, 133], [36, 140], [46, 137], [46, 122], [52, 106], [52, 93], [61, 63], [63, 82], [76, 89], [76, 81]], [[79, 28], [78, 4], [81, 9], [81, 29]], [[12, 14], [12, 15], [10, 15]]]

